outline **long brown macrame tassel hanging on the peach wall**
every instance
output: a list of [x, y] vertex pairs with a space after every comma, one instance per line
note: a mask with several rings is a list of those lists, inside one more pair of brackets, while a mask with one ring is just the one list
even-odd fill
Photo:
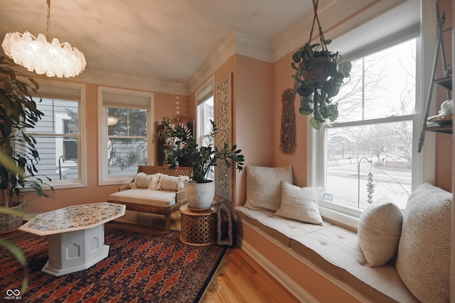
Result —
[[282, 94], [282, 132], [279, 148], [286, 155], [296, 152], [296, 113], [294, 109], [294, 90], [286, 89]]

